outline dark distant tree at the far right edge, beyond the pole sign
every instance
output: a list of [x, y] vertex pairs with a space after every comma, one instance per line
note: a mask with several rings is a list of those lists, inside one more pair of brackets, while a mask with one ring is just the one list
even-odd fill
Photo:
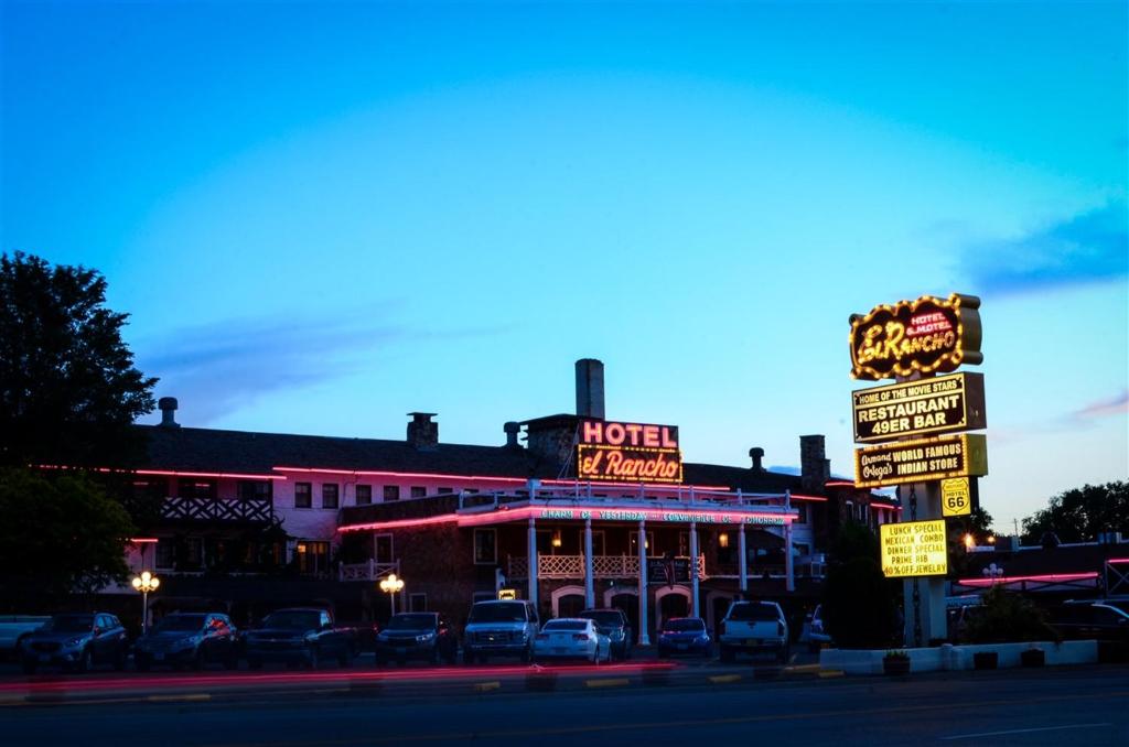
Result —
[[1023, 520], [1025, 544], [1039, 544], [1047, 533], [1060, 542], [1093, 542], [1103, 531], [1129, 534], [1129, 482], [1068, 490]]

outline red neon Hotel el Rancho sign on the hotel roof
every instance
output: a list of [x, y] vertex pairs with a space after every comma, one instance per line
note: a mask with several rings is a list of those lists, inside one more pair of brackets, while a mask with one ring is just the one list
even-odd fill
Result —
[[681, 483], [679, 429], [674, 425], [581, 421], [576, 468], [578, 480]]

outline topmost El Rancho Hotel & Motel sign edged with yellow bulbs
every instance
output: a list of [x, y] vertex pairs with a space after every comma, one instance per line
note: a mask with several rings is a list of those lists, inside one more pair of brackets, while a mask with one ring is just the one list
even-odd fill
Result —
[[850, 375], [856, 379], [893, 379], [946, 374], [961, 363], [982, 363], [980, 299], [953, 293], [877, 306], [851, 317]]

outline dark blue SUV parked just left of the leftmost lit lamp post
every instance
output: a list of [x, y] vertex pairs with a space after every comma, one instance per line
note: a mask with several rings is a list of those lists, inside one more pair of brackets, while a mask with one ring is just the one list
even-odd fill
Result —
[[129, 641], [121, 621], [108, 613], [53, 615], [43, 627], [28, 633], [20, 651], [24, 671], [56, 666], [87, 671], [95, 665], [125, 668]]

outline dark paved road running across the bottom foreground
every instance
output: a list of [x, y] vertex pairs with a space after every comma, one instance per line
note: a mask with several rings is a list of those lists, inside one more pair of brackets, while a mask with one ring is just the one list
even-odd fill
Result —
[[[746, 675], [749, 673], [746, 671]], [[814, 675], [644, 686], [588, 676], [560, 692], [505, 684], [443, 697], [295, 686], [135, 702], [0, 708], [5, 745], [1092, 745], [1129, 744], [1129, 668], [1005, 670], [907, 678]], [[672, 684], [673, 683], [673, 684]], [[439, 691], [436, 691], [439, 692]]]

